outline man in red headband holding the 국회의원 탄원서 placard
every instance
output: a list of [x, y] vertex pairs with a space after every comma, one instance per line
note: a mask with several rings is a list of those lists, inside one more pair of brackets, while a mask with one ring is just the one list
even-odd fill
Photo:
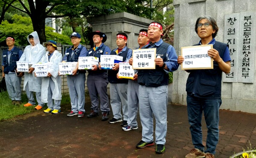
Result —
[[137, 148], [145, 148], [154, 145], [153, 114], [156, 120], [155, 152], [161, 154], [165, 151], [167, 132], [167, 102], [169, 72], [178, 68], [177, 55], [172, 45], [163, 42], [161, 35], [163, 26], [161, 23], [152, 22], [148, 26], [148, 38], [150, 42], [142, 49], [156, 48], [154, 59], [155, 69], [140, 69], [138, 71], [140, 121], [142, 124], [142, 140]]

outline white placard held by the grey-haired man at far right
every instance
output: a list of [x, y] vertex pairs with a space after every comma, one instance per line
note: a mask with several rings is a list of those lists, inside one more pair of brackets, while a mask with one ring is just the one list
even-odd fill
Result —
[[181, 56], [184, 57], [181, 69], [213, 69], [213, 59], [207, 53], [212, 47], [213, 45], [181, 47]]

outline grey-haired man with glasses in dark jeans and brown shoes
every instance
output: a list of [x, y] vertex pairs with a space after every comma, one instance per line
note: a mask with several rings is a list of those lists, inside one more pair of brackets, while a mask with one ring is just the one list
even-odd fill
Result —
[[[186, 158], [214, 158], [218, 143], [219, 107], [221, 106], [221, 79], [222, 72], [230, 72], [230, 54], [226, 43], [218, 42], [215, 36], [218, 32], [216, 21], [209, 16], [199, 17], [195, 23], [195, 32], [201, 38], [196, 45], [212, 44], [208, 55], [214, 60], [213, 69], [186, 70], [189, 73], [187, 92], [187, 111], [192, 135], [192, 143], [195, 146]], [[184, 61], [183, 56], [178, 56], [178, 63]], [[207, 125], [207, 140], [204, 150], [201, 128], [202, 114]]]

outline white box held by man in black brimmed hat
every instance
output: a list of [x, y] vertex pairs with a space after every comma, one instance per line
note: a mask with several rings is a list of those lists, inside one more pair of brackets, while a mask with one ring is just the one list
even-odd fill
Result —
[[78, 69], [79, 70], [90, 70], [93, 69], [93, 65], [99, 64], [99, 58], [94, 56], [85, 56], [85, 57], [79, 57], [78, 58]]

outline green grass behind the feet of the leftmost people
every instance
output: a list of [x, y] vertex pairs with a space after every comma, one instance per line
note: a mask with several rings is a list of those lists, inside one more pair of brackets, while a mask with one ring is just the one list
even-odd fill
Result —
[[[22, 93], [21, 98], [22, 98], [21, 99], [22, 102], [20, 105], [12, 105], [12, 100], [9, 99], [9, 95], [7, 91], [0, 93], [0, 121], [8, 120], [19, 115], [24, 115], [26, 113], [35, 112], [34, 110], [35, 106], [31, 106], [31, 107], [23, 106], [23, 104], [26, 104], [28, 102], [26, 93]], [[63, 107], [63, 105], [66, 105], [66, 104], [70, 104], [69, 94], [62, 95], [61, 107]], [[44, 106], [44, 109], [46, 108], [47, 106]]]

